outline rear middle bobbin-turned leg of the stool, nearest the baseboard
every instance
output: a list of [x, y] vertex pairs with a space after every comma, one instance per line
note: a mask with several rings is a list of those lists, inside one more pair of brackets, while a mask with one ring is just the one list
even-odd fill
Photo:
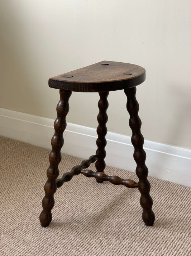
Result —
[[[96, 172], [104, 172], [105, 169], [105, 161], [104, 158], [106, 157], [106, 151], [105, 146], [107, 144], [107, 141], [105, 139], [105, 136], [107, 134], [107, 127], [106, 122], [108, 121], [108, 115], [106, 113], [106, 110], [108, 108], [108, 95], [109, 91], [100, 92], [100, 100], [98, 102], [99, 107], [99, 114], [97, 115], [97, 121], [98, 121], [98, 127], [97, 127], [97, 135], [98, 138], [96, 140], [97, 145], [97, 151], [96, 155], [98, 155], [97, 161], [95, 163]], [[103, 181], [96, 180], [98, 183], [102, 183]]]

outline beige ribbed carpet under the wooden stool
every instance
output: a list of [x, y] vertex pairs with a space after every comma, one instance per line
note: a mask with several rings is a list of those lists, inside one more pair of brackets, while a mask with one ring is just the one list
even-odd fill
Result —
[[[4, 137], [0, 146], [0, 255], [191, 255], [191, 188], [149, 177], [156, 221], [147, 227], [137, 189], [74, 176], [57, 190], [52, 223], [42, 228], [49, 150]], [[60, 173], [80, 162], [63, 155]], [[137, 181], [134, 172], [106, 173]]]

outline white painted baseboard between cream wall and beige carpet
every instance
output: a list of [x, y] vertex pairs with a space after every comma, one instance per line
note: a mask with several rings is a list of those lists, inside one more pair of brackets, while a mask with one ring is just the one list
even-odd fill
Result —
[[[54, 120], [0, 108], [0, 135], [51, 149]], [[89, 158], [96, 151], [96, 129], [67, 123], [63, 153]], [[105, 162], [135, 171], [131, 138], [108, 132]], [[191, 150], [145, 140], [149, 175], [191, 187]]]

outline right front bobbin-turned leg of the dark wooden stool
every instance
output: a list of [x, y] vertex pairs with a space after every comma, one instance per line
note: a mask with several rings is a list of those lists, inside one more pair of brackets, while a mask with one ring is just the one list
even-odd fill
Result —
[[136, 87], [124, 90], [127, 96], [126, 108], [129, 112], [129, 126], [132, 129], [132, 144], [134, 147], [134, 160], [137, 163], [136, 174], [139, 178], [138, 189], [140, 192], [140, 205], [143, 208], [142, 219], [147, 226], [154, 224], [154, 213], [152, 211], [153, 200], [149, 194], [150, 183], [147, 180], [148, 168], [145, 165], [146, 153], [143, 149], [144, 138], [140, 132], [141, 120], [138, 116], [139, 104], [135, 98]]

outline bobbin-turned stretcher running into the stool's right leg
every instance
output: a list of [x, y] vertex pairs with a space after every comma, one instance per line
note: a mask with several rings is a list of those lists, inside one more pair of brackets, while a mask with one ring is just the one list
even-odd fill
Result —
[[85, 175], [86, 177], [94, 177], [96, 180], [99, 181], [109, 181], [114, 185], [124, 185], [127, 188], [137, 188], [138, 184], [134, 180], [124, 180], [121, 179], [119, 176], [108, 176], [104, 172], [94, 172], [92, 170], [81, 170], [81, 174]]

